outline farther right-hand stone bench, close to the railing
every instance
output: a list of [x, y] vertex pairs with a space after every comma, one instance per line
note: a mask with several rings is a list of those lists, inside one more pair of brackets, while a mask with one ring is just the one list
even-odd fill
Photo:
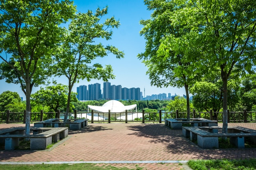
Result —
[[183, 124], [189, 124], [191, 126], [218, 126], [218, 122], [215, 120], [209, 120], [204, 118], [190, 119], [191, 121], [186, 121], [186, 119], [164, 119], [165, 126], [171, 129], [182, 129]]

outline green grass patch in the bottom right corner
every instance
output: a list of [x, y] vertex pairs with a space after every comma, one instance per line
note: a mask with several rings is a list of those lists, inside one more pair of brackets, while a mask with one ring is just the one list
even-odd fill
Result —
[[256, 159], [190, 160], [188, 165], [193, 170], [256, 170]]

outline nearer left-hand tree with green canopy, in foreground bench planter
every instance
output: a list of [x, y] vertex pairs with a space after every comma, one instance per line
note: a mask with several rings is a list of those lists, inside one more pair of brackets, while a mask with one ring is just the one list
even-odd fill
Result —
[[[20, 83], [26, 95], [26, 134], [30, 133], [30, 95], [42, 84], [52, 62], [54, 45], [60, 40], [60, 24], [73, 17], [69, 0], [0, 0], [0, 58], [11, 70], [7, 82]], [[2, 55], [6, 53], [6, 56]], [[15, 72], [15, 76], [11, 72]]]

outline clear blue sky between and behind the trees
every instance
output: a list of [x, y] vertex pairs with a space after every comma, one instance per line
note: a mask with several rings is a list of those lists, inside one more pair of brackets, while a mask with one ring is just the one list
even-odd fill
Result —
[[[140, 88], [144, 96], [153, 95], [159, 93], [171, 93], [171, 95], [184, 95], [184, 88], [157, 88], [156, 86], [150, 86], [150, 79], [146, 75], [147, 68], [141, 63], [141, 60], [137, 58], [139, 53], [143, 53], [145, 49], [146, 40], [144, 36], [140, 36], [139, 31], [142, 29], [142, 25], [139, 24], [140, 20], [150, 19], [152, 11], [148, 11], [144, 0], [74, 0], [74, 4], [77, 6], [79, 12], [86, 13], [88, 10], [95, 10], [108, 6], [108, 14], [106, 17], [115, 17], [119, 20], [121, 25], [118, 29], [112, 29], [112, 39], [105, 45], [113, 45], [120, 51], [125, 53], [124, 58], [117, 59], [114, 55], [108, 55], [106, 57], [97, 59], [95, 62], [106, 65], [112, 65], [114, 70], [115, 79], [110, 79], [108, 82], [111, 85], [121, 85], [123, 88]], [[2, 62], [2, 61], [0, 61]], [[68, 80], [66, 77], [54, 77], [58, 83], [67, 85]], [[50, 80], [50, 79], [49, 79]], [[103, 88], [102, 80], [92, 79], [90, 82], [87, 80], [79, 80], [76, 83], [72, 91], [76, 92], [76, 87], [80, 85], [86, 85], [100, 83], [101, 89]], [[21, 97], [25, 99], [25, 94], [22, 92], [20, 85], [7, 84], [5, 80], [0, 80], [0, 93], [4, 91], [16, 91]], [[33, 87], [32, 93], [39, 90], [40, 87]]]

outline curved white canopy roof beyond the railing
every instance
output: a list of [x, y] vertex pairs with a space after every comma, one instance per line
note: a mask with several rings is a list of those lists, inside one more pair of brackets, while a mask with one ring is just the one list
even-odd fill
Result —
[[122, 104], [117, 100], [110, 100], [105, 104], [103, 104], [103, 106], [88, 105], [88, 112], [89, 112], [89, 108], [91, 110], [94, 110], [97, 112], [103, 112], [103, 113], [108, 113], [108, 110], [110, 110], [110, 113], [121, 113], [121, 112], [125, 112], [125, 110], [133, 110], [134, 108], [136, 108], [136, 112], [137, 112], [137, 104], [124, 106], [124, 104]]

